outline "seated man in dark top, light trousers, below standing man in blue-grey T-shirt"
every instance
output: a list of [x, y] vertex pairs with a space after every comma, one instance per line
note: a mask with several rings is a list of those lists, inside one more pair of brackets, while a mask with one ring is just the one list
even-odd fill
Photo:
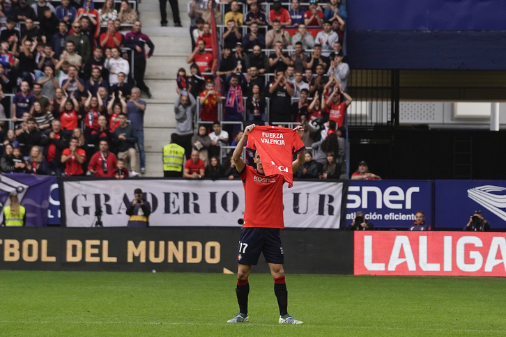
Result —
[[[116, 136], [116, 149], [118, 150], [118, 159], [128, 159], [130, 161], [130, 171], [132, 177], [137, 175], [137, 152], [135, 144], [137, 143], [137, 131], [135, 127], [127, 123], [125, 113], [119, 114], [119, 126], [114, 130]], [[126, 160], [125, 160], [126, 164]]]

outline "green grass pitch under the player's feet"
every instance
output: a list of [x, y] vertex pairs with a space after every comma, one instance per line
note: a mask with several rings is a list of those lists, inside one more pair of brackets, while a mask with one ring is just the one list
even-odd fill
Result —
[[[254, 272], [254, 270], [253, 270]], [[0, 336], [504, 336], [505, 279], [287, 275], [277, 324], [268, 274], [250, 276], [250, 322], [236, 276], [0, 272]]]

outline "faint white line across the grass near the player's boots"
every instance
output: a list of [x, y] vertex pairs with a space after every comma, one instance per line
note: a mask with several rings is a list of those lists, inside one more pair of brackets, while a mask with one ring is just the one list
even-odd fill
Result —
[[[103, 321], [73, 321], [73, 322], [51, 322], [51, 321], [24, 321], [24, 320], [0, 320], [0, 323], [6, 324], [146, 324], [146, 325], [212, 325], [212, 326], [233, 326], [234, 324], [223, 323], [192, 323], [192, 322], [103, 322]], [[279, 327], [282, 324], [259, 324], [246, 323], [241, 327]], [[506, 330], [475, 330], [475, 329], [431, 329], [431, 328], [403, 328], [403, 327], [353, 327], [353, 326], [330, 326], [330, 325], [300, 325], [302, 328], [325, 328], [325, 329], [381, 329], [381, 330], [420, 330], [420, 331], [452, 331], [452, 332], [477, 332], [477, 333], [496, 333], [504, 334]]]

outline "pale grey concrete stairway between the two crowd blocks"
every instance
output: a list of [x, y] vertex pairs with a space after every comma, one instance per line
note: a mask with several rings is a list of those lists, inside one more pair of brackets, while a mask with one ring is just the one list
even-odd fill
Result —
[[160, 26], [158, 0], [142, 0], [139, 3], [142, 31], [155, 44], [155, 53], [148, 59], [146, 84], [151, 87], [153, 99], [143, 97], [147, 102], [144, 116], [144, 146], [146, 148], [146, 177], [162, 177], [162, 148], [170, 143], [170, 135], [176, 131], [174, 102], [176, 74], [179, 68], [190, 70], [186, 57], [191, 52], [190, 17], [187, 15], [187, 1], [179, 0], [182, 28], [174, 27], [172, 13], [167, 1], [169, 27]]

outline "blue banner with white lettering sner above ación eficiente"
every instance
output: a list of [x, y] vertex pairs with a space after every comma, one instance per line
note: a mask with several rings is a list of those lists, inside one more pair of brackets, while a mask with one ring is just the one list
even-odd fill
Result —
[[415, 213], [425, 213], [431, 221], [432, 182], [430, 180], [351, 180], [346, 205], [346, 226], [362, 210], [376, 228], [409, 228]]

